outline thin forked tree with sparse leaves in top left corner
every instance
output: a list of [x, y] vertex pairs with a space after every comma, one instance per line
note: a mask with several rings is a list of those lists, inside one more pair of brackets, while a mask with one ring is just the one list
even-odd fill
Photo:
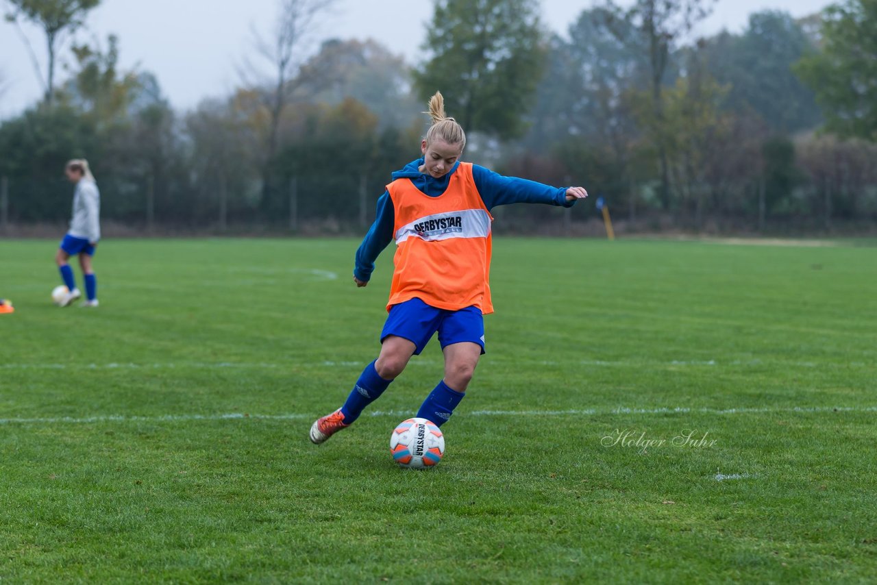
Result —
[[[6, 19], [16, 25], [18, 33], [25, 43], [25, 48], [31, 57], [37, 79], [45, 91], [46, 103], [51, 104], [54, 96], [54, 70], [58, 49], [68, 35], [85, 24], [86, 15], [97, 4], [100, 4], [100, 0], [8, 1], [11, 5], [11, 12], [6, 14]], [[33, 50], [33, 46], [21, 30], [20, 21], [22, 19], [39, 26], [46, 34], [48, 62], [46, 63], [45, 77], [39, 67], [39, 60]]]

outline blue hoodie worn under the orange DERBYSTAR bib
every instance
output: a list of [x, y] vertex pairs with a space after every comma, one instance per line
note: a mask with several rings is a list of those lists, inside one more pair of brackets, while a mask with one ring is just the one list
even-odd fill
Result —
[[[438, 197], [445, 192], [460, 161], [454, 163], [453, 168], [447, 175], [435, 178], [432, 175], [421, 173], [419, 168], [424, 164], [423, 159], [411, 161], [402, 170], [393, 173], [393, 180], [410, 179], [417, 189], [431, 197]], [[488, 210], [497, 205], [510, 203], [546, 203], [549, 205], [561, 205], [572, 207], [574, 201], [567, 201], [566, 187], [549, 187], [540, 182], [518, 179], [494, 173], [488, 168], [472, 165], [472, 176], [475, 187], [481, 194], [481, 200]], [[383, 252], [383, 249], [393, 240], [393, 228], [396, 224], [396, 210], [389, 191], [384, 191], [378, 199], [377, 218], [368, 230], [360, 248], [356, 251], [356, 268], [353, 275], [360, 281], [368, 282], [374, 272], [374, 260]]]

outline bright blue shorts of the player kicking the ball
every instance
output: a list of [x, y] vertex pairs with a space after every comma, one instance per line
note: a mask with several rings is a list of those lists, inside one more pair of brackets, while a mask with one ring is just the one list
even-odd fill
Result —
[[481, 353], [484, 353], [484, 316], [481, 309], [436, 309], [419, 298], [390, 307], [387, 323], [381, 332], [381, 343], [389, 335], [396, 335], [417, 346], [414, 354], [420, 355], [435, 332], [439, 332], [442, 349], [469, 341], [481, 346]]

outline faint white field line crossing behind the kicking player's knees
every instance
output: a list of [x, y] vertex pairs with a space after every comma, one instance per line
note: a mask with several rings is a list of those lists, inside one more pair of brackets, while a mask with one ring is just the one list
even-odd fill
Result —
[[[164, 363], [133, 363], [133, 362], [111, 362], [111, 363], [7, 363], [0, 364], [0, 370], [3, 369], [174, 369], [178, 367], [196, 367], [196, 368], [240, 368], [240, 369], [272, 369], [293, 366], [306, 367], [364, 367], [367, 361], [333, 361], [324, 360], [316, 362], [296, 362], [294, 360], [288, 363], [265, 363], [265, 362], [242, 362], [242, 361], [180, 361], [180, 362], [164, 362]], [[410, 364], [414, 366], [434, 366], [438, 364], [437, 360], [415, 359]], [[496, 362], [502, 365], [503, 362]], [[569, 360], [569, 361], [533, 361], [533, 362], [516, 362], [519, 367], [561, 367], [561, 366], [598, 366], [598, 367], [733, 367], [733, 366], [768, 366], [781, 365], [793, 367], [866, 367], [864, 361], [848, 361], [841, 364], [820, 364], [814, 361], [783, 361], [783, 360], [670, 360], [670, 361], [634, 361], [634, 360]]]

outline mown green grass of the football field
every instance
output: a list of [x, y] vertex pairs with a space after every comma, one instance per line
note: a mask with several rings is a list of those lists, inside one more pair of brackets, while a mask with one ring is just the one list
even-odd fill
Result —
[[111, 240], [81, 310], [56, 242], [0, 242], [0, 581], [877, 579], [877, 247], [496, 239], [488, 354], [411, 472], [435, 341], [307, 440], [378, 351], [357, 243]]

